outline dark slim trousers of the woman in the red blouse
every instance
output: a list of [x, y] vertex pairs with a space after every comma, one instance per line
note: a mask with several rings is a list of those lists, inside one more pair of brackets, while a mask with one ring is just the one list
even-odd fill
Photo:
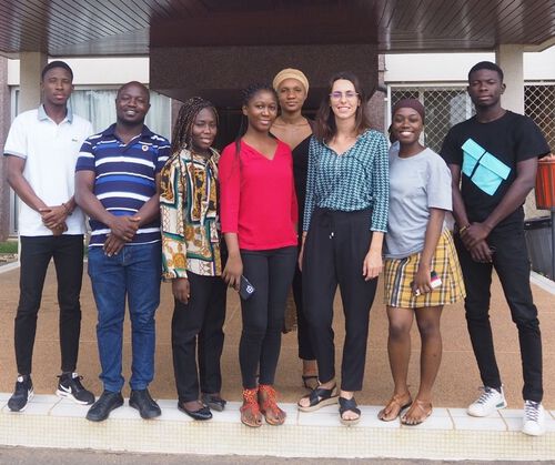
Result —
[[274, 384], [285, 301], [296, 257], [296, 246], [265, 251], [241, 250], [243, 274], [255, 289], [249, 300], [241, 299], [243, 331], [239, 344], [239, 362], [244, 388], [256, 387], [259, 370], [260, 384]]

